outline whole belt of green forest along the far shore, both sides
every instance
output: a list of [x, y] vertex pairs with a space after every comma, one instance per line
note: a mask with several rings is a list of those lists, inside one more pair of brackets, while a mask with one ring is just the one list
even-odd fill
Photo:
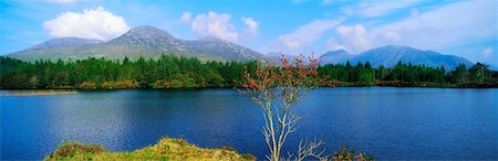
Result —
[[[240, 86], [251, 62], [201, 62], [196, 57], [163, 55], [156, 60], [110, 61], [89, 57], [77, 61], [22, 62], [0, 57], [2, 89], [116, 89], [116, 88], [218, 88]], [[322, 86], [432, 86], [498, 87], [498, 73], [488, 65], [460, 65], [454, 71], [398, 62], [374, 68], [369, 62], [328, 64], [318, 67]]]

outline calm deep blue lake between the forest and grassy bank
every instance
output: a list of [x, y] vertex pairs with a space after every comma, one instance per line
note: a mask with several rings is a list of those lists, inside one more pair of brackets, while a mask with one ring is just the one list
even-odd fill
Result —
[[[284, 151], [317, 138], [328, 151], [349, 146], [381, 160], [498, 160], [497, 98], [498, 89], [321, 88], [299, 104], [305, 117]], [[82, 90], [0, 105], [1, 160], [43, 159], [68, 140], [134, 150], [163, 136], [268, 153], [262, 111], [231, 89]]]

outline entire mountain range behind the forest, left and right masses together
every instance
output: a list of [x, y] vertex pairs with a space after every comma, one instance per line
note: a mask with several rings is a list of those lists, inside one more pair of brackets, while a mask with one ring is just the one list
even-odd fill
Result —
[[[249, 61], [269, 57], [280, 61], [281, 54], [263, 55], [248, 47], [224, 41], [215, 36], [200, 40], [181, 40], [160, 29], [143, 25], [131, 29], [123, 35], [110, 41], [89, 40], [80, 37], [52, 39], [27, 50], [8, 54], [7, 56], [22, 61], [59, 58], [83, 60], [87, 57], [105, 57], [108, 60], [157, 58], [162, 54], [195, 56], [211, 61]], [[291, 55], [284, 55], [292, 58]], [[444, 66], [453, 69], [459, 64], [471, 66], [473, 63], [458, 56], [444, 55], [434, 51], [422, 51], [409, 46], [386, 45], [372, 49], [360, 54], [350, 54], [344, 50], [331, 51], [320, 56], [321, 64], [352, 64], [369, 61], [373, 67], [394, 66], [397, 62], [424, 64], [426, 66]]]

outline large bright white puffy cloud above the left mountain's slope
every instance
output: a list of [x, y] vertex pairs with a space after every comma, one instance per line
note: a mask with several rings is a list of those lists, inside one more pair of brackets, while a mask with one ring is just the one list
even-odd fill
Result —
[[129, 30], [123, 17], [102, 7], [85, 9], [83, 12], [64, 12], [45, 21], [43, 28], [52, 37], [76, 36], [110, 40]]

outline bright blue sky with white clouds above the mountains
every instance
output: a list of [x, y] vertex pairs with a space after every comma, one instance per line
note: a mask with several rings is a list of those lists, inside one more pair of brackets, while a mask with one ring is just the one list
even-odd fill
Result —
[[0, 55], [54, 37], [108, 41], [141, 25], [260, 53], [407, 45], [498, 66], [497, 0], [0, 0]]

